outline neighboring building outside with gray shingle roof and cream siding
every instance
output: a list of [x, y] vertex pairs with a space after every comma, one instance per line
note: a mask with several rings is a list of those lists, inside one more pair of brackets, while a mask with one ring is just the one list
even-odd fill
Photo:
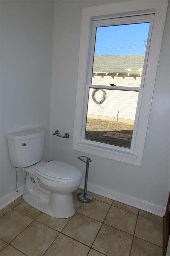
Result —
[[[101, 55], [94, 56], [92, 84], [140, 87], [144, 55]], [[138, 92], [105, 90], [106, 100], [96, 104], [91, 97], [88, 101], [88, 118], [134, 123]], [[99, 101], [102, 91], [95, 93]]]

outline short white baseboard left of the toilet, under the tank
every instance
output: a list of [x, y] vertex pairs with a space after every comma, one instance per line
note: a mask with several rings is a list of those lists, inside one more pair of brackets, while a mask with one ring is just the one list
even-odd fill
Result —
[[13, 202], [15, 199], [17, 199], [21, 195], [23, 195], [25, 193], [24, 187], [25, 187], [25, 185], [21, 185], [19, 187], [19, 191], [20, 191], [19, 194], [16, 191], [11, 191], [7, 195], [0, 198], [0, 210], [2, 208], [4, 208], [5, 206], [7, 206], [8, 204], [10, 204], [11, 202]]

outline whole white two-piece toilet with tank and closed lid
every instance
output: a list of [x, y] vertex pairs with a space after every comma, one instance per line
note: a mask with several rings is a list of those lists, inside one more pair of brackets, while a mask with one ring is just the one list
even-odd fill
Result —
[[64, 162], [41, 161], [45, 129], [29, 129], [6, 135], [11, 164], [27, 172], [23, 199], [56, 218], [74, 215], [72, 193], [82, 182], [82, 173]]

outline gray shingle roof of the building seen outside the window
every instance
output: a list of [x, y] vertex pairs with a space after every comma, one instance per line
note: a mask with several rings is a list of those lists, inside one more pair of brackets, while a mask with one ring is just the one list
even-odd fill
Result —
[[[142, 73], [145, 55], [95, 55], [94, 73]], [[127, 69], [131, 69], [128, 71]]]

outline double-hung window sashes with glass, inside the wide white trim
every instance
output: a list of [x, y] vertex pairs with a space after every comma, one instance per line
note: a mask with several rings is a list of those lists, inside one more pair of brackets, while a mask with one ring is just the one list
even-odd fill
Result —
[[[93, 22], [93, 66], [89, 64], [86, 85], [90, 84], [86, 140], [131, 148], [136, 132], [133, 128], [137, 120], [138, 88], [143, 87], [153, 15], [142, 15], [140, 19], [141, 16], [134, 16]], [[95, 88], [92, 85], [96, 85]], [[122, 90], [122, 87], [126, 88]]]

